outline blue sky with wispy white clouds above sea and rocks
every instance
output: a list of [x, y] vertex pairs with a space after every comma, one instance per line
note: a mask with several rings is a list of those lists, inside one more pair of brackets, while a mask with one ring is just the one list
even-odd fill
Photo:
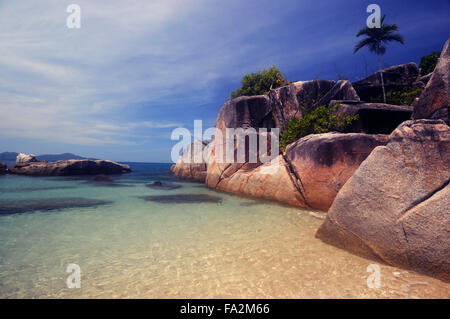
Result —
[[[66, 27], [71, 3], [80, 29]], [[0, 1], [0, 152], [169, 162], [172, 130], [213, 126], [245, 73], [375, 71], [376, 57], [352, 53], [371, 3], [406, 41], [386, 66], [418, 63], [450, 36], [449, 0]]]

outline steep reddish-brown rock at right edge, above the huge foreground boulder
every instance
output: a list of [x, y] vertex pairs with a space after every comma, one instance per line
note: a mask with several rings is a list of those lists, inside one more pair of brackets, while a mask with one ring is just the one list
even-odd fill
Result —
[[450, 107], [450, 39], [422, 95], [414, 103], [413, 119], [442, 119], [447, 124]]

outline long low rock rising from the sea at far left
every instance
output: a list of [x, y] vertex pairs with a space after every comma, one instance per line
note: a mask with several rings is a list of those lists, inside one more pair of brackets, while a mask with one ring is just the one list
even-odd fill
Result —
[[33, 155], [19, 154], [10, 173], [33, 176], [69, 176], [122, 174], [131, 172], [130, 166], [112, 161], [68, 160], [37, 161]]

